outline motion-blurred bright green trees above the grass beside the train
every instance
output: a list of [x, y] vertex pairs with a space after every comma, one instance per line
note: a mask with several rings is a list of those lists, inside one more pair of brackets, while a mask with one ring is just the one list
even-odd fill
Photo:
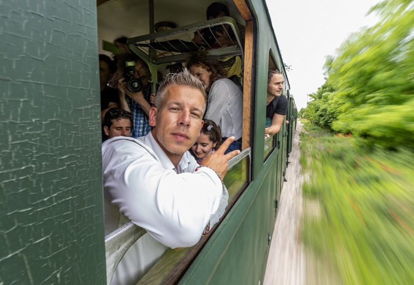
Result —
[[386, 0], [374, 27], [353, 33], [325, 63], [327, 82], [310, 94], [314, 124], [388, 148], [414, 144], [414, 0]]

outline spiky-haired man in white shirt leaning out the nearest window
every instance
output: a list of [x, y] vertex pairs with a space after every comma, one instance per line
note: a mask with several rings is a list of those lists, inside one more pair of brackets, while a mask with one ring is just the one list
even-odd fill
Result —
[[240, 151], [224, 152], [235, 138], [202, 165], [188, 151], [204, 125], [206, 99], [203, 84], [187, 70], [174, 74], [158, 89], [148, 135], [102, 144], [105, 234], [129, 220], [147, 231], [124, 255], [111, 284], [135, 284], [168, 248], [196, 244], [227, 203], [222, 178]]

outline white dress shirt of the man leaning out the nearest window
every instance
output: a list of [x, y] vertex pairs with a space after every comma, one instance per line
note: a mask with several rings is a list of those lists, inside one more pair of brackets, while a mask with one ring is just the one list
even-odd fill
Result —
[[174, 167], [151, 132], [102, 144], [105, 235], [118, 228], [119, 213], [147, 230], [125, 253], [111, 285], [135, 284], [168, 248], [200, 240], [219, 208], [223, 186], [207, 167], [194, 173], [197, 166], [187, 151]]

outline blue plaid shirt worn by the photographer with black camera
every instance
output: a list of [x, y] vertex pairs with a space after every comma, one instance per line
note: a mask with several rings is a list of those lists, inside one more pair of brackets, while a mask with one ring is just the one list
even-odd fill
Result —
[[[152, 83], [151, 83], [152, 84]], [[144, 99], [149, 103], [150, 96], [151, 96], [151, 84], [148, 86], [146, 90], [142, 90], [142, 94]], [[148, 116], [145, 111], [141, 108], [141, 106], [132, 100], [128, 95], [125, 96], [127, 100], [128, 106], [132, 111], [132, 118], [134, 119], [134, 126], [131, 129], [131, 137], [143, 137], [147, 136], [147, 134], [151, 131], [151, 126], [148, 123]], [[151, 105], [151, 104], [150, 104]]]

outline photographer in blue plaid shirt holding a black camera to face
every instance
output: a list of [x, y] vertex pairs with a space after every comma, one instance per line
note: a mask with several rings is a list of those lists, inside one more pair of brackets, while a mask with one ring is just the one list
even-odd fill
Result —
[[121, 109], [132, 113], [131, 137], [143, 137], [151, 131], [148, 115], [151, 98], [155, 98], [155, 94], [151, 94], [150, 69], [136, 54], [127, 56], [123, 66], [125, 77], [118, 81], [119, 103]]

